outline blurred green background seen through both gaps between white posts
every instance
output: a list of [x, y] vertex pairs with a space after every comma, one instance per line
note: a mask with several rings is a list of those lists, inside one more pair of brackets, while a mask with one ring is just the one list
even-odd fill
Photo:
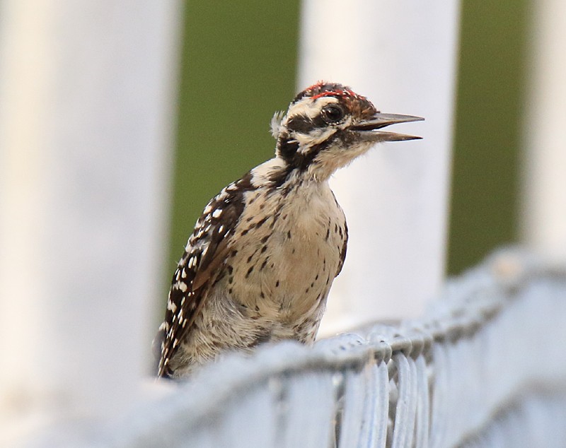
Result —
[[[270, 118], [295, 94], [299, 7], [185, 2], [168, 277], [207, 201], [272, 155]], [[451, 274], [517, 240], [529, 3], [466, 0], [461, 13]]]

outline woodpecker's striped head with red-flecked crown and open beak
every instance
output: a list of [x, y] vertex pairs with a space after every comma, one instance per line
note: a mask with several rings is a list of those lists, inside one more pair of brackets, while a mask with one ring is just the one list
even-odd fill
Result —
[[289, 168], [325, 180], [374, 143], [420, 138], [381, 130], [419, 120], [422, 118], [382, 114], [350, 88], [321, 82], [299, 93], [287, 113], [273, 117], [275, 153]]

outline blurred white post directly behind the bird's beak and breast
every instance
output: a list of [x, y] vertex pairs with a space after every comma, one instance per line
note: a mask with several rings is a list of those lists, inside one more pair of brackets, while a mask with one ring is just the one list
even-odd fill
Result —
[[352, 86], [383, 112], [425, 117], [339, 172], [350, 244], [321, 334], [414, 317], [444, 276], [459, 2], [305, 0], [300, 89]]

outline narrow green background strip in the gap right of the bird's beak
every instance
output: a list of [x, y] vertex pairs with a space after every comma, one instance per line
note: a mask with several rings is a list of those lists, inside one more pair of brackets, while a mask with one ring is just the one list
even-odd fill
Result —
[[461, 16], [449, 273], [517, 240], [527, 0], [464, 0]]

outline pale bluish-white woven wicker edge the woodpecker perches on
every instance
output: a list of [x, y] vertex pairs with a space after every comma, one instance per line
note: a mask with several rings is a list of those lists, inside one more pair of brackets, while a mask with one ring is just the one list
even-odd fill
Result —
[[[564, 447], [566, 270], [501, 252], [418, 320], [151, 384], [113, 447]], [[162, 386], [162, 387], [161, 387]], [[155, 392], [155, 390], [154, 390]]]

